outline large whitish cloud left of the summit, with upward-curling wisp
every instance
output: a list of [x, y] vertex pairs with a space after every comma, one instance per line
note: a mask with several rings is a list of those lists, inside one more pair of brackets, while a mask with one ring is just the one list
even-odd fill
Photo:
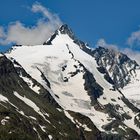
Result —
[[36, 25], [25, 26], [20, 21], [9, 23], [7, 31], [0, 28], [0, 43], [16, 43], [21, 45], [38, 45], [44, 43], [56, 29], [62, 25], [58, 15], [51, 13], [40, 3], [35, 3], [31, 7], [34, 13], [42, 13], [43, 18], [38, 19]]

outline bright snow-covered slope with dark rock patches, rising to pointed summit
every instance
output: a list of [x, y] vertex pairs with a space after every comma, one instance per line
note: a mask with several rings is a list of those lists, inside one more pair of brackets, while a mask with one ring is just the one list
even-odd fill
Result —
[[49, 91], [74, 124], [80, 125], [79, 115], [71, 111], [90, 118], [109, 139], [139, 139], [139, 109], [106, 80], [84, 49], [90, 52], [63, 25], [44, 45], [15, 46], [6, 56]]

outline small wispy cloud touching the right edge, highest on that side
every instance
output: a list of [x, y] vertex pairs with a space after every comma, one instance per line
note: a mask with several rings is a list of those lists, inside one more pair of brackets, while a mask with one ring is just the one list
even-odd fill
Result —
[[131, 33], [130, 37], [127, 39], [127, 44], [129, 46], [140, 45], [140, 30]]

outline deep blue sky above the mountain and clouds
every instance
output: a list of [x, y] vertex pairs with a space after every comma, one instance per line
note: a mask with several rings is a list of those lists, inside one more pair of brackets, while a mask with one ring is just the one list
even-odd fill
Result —
[[[41, 12], [31, 11], [35, 2], [57, 14], [91, 47], [104, 39], [119, 48], [140, 50], [140, 0], [1, 0], [0, 26], [5, 36], [16, 21], [26, 28], [37, 25], [40, 19], [47, 22]], [[9, 46], [2, 43], [0, 50]]]

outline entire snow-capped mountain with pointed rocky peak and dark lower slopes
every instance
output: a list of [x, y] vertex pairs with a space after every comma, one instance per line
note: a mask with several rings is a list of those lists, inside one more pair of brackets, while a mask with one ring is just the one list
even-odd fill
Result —
[[28, 139], [138, 140], [140, 110], [126, 98], [137, 68], [122, 53], [90, 49], [67, 25], [43, 45], [14, 46], [0, 57], [1, 128]]

